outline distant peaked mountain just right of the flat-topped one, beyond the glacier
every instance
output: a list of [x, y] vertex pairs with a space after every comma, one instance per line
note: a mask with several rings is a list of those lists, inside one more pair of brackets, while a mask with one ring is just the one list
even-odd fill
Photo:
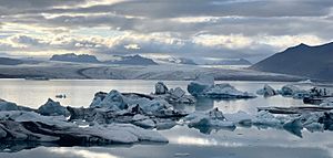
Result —
[[119, 60], [107, 61], [108, 64], [122, 64], [122, 65], [158, 65], [153, 60], [143, 57], [141, 55], [118, 56]]

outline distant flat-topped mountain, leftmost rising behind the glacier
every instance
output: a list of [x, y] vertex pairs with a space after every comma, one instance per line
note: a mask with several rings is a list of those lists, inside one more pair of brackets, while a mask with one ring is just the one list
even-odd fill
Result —
[[62, 62], [78, 62], [78, 63], [100, 63], [100, 61], [94, 55], [80, 54], [77, 55], [74, 53], [70, 54], [56, 54], [50, 61], [62, 61]]

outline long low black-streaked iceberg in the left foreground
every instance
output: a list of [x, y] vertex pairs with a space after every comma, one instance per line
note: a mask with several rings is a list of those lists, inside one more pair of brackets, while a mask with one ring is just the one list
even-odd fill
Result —
[[41, 116], [33, 112], [0, 112], [0, 139], [12, 141], [48, 141], [65, 145], [168, 143], [154, 130], [130, 124], [79, 127], [63, 116]]

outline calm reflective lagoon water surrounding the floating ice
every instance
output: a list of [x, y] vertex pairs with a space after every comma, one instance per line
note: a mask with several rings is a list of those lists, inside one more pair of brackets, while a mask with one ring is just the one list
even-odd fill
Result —
[[[38, 108], [49, 97], [61, 102], [62, 105], [88, 107], [95, 92], [119, 89], [120, 92], [151, 93], [157, 81], [24, 81], [0, 80], [0, 98]], [[189, 82], [165, 82], [169, 87], [186, 88]], [[221, 82], [230, 83], [236, 88], [255, 93], [268, 82]], [[280, 88], [287, 83], [269, 83]], [[302, 85], [310, 88], [310, 85]], [[57, 94], [65, 94], [65, 99], [57, 99]], [[219, 107], [224, 113], [245, 110], [255, 113], [260, 106], [297, 106], [303, 105], [300, 99], [274, 96], [258, 97], [240, 101], [199, 101], [198, 105], [178, 106], [186, 110], [208, 110]], [[169, 144], [138, 144], [132, 146], [108, 147], [43, 147], [21, 150], [13, 154], [0, 152], [0, 158], [44, 157], [44, 158], [118, 158], [118, 157], [191, 157], [191, 158], [326, 158], [333, 157], [333, 133], [310, 133], [303, 130], [300, 138], [285, 130], [258, 129], [256, 127], [238, 127], [213, 130], [202, 134], [198, 129], [176, 126], [160, 131], [168, 137]], [[48, 145], [44, 145], [48, 146]], [[20, 148], [20, 147], [18, 147]]]

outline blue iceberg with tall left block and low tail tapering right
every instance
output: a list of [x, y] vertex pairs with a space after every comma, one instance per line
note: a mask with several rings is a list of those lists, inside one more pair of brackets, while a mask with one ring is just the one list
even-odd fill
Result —
[[196, 97], [210, 98], [254, 98], [252, 93], [241, 92], [230, 84], [213, 84], [211, 80], [202, 80], [199, 77], [196, 81], [188, 85], [188, 91], [191, 95]]

